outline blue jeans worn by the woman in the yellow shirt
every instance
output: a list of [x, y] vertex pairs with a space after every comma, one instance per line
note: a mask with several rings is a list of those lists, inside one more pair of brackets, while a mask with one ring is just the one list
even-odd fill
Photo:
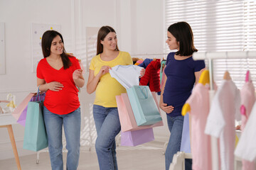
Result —
[[97, 130], [95, 148], [100, 170], [118, 169], [115, 137], [121, 130], [117, 108], [93, 106]]

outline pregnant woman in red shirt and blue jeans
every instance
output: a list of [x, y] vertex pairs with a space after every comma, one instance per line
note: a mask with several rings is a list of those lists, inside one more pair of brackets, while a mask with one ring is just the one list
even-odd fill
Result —
[[63, 37], [48, 30], [42, 37], [43, 59], [36, 69], [39, 90], [46, 91], [43, 118], [52, 169], [63, 170], [64, 128], [67, 168], [77, 169], [80, 155], [80, 102], [78, 88], [85, 84], [78, 60], [65, 52]]

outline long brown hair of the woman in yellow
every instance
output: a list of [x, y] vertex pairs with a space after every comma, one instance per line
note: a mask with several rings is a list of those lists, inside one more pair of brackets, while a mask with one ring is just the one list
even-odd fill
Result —
[[[100, 40], [104, 40], [104, 38], [107, 36], [108, 33], [116, 33], [116, 32], [110, 26], [102, 26], [102, 28], [100, 28], [97, 35], [97, 54], [96, 55], [99, 55], [100, 53], [103, 52], [103, 45], [102, 43], [100, 43]], [[116, 50], [119, 51], [118, 46]]]

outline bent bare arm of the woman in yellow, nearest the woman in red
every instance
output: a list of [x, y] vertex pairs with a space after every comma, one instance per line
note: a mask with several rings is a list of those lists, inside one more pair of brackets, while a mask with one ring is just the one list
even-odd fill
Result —
[[100, 77], [110, 72], [110, 69], [111, 67], [109, 66], [102, 66], [100, 72], [96, 76], [94, 75], [94, 70], [89, 69], [89, 77], [86, 86], [88, 94], [92, 94], [96, 90], [97, 84], [100, 81]]

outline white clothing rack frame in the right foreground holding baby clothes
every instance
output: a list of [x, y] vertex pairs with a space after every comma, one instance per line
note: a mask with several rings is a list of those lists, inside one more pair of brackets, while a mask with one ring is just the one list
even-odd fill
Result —
[[[210, 74], [210, 103], [214, 96], [213, 90], [213, 60], [216, 59], [249, 59], [255, 58], [256, 51], [230, 51], [230, 52], [194, 52], [193, 60], [208, 60], [208, 70]], [[213, 170], [218, 170], [218, 140], [211, 137], [212, 165]]]

